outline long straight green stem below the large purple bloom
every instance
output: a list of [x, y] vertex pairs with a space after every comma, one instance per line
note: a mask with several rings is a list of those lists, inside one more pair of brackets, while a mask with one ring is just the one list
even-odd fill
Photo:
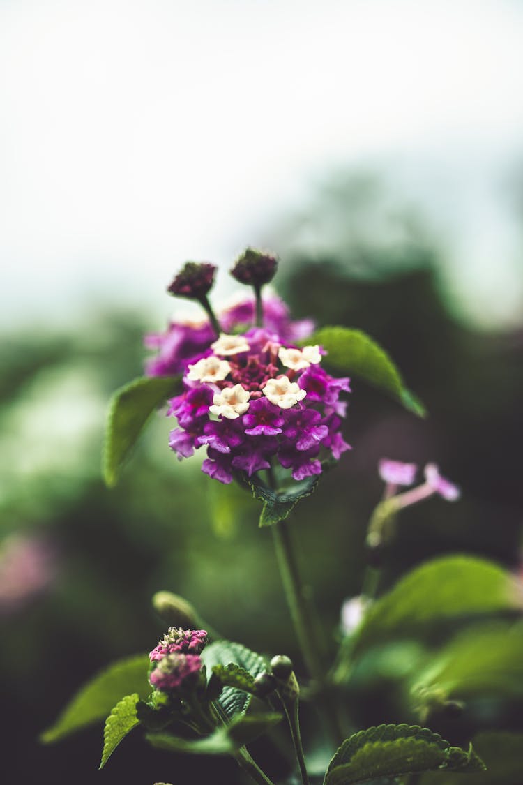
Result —
[[318, 704], [329, 727], [332, 741], [335, 744], [340, 744], [344, 735], [337, 707], [332, 703], [328, 694], [328, 685], [325, 679], [327, 668], [320, 655], [320, 652], [324, 651], [324, 646], [321, 634], [318, 632], [318, 622], [311, 604], [310, 593], [303, 586], [300, 577], [288, 522], [280, 520], [278, 524], [271, 526], [271, 529], [281, 582], [303, 661], [312, 680], [318, 686]]

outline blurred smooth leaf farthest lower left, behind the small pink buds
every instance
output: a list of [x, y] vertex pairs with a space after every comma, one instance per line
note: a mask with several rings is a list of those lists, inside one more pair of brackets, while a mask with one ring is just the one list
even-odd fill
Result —
[[42, 733], [41, 741], [53, 743], [104, 720], [123, 695], [137, 692], [143, 699], [147, 698], [151, 692], [147, 681], [149, 664], [147, 654], [140, 654], [102, 670], [74, 696], [55, 724]]

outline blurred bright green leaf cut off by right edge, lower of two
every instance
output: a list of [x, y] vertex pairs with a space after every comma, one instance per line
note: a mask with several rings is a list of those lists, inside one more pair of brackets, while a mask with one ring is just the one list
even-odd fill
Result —
[[471, 626], [441, 648], [412, 686], [419, 711], [446, 700], [523, 697], [523, 626]]

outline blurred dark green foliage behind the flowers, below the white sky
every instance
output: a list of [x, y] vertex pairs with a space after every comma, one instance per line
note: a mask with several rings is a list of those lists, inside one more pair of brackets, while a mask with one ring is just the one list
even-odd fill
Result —
[[[369, 332], [430, 413], [427, 421], [418, 420], [354, 382], [346, 432], [354, 450], [292, 518], [300, 565], [314, 587], [332, 653], [340, 606], [361, 589], [365, 526], [381, 494], [376, 464], [383, 455], [438, 462], [462, 486], [463, 500], [450, 506], [434, 499], [401, 515], [382, 591], [419, 562], [456, 551], [519, 569], [523, 334], [474, 333], [453, 322], [438, 294], [435, 252], [418, 240], [406, 244], [408, 258], [398, 245], [390, 250], [358, 243], [343, 246], [343, 255], [295, 255], [281, 264], [276, 281], [296, 317]], [[395, 270], [385, 268], [386, 257], [398, 257]], [[77, 785], [169, 781], [174, 769], [203, 779], [205, 761], [152, 753], [136, 739], [126, 739], [122, 754], [97, 775], [101, 729], [71, 739], [67, 750], [36, 744], [42, 728], [100, 666], [156, 644], [162, 623], [150, 598], [157, 590], [187, 597], [224, 637], [255, 651], [289, 654], [298, 670], [302, 666], [281, 600], [271, 533], [257, 526], [258, 503], [236, 487], [210, 481], [198, 458], [177, 462], [167, 446], [168, 420], [154, 418], [118, 487], [107, 491], [102, 484], [107, 403], [114, 389], [142, 373], [142, 335], [158, 327], [150, 316], [93, 314], [78, 332], [52, 335], [35, 324], [2, 341], [0, 536], [6, 543], [16, 533], [53, 553], [45, 590], [24, 593], [20, 575], [0, 609], [2, 699], [12, 717], [5, 743], [16, 750], [13, 776], [20, 781], [65, 782], [80, 756], [86, 762], [75, 773]], [[427, 650], [440, 644], [447, 645], [407, 634], [370, 650], [346, 685], [354, 727], [416, 721], [405, 682], [418, 662], [427, 662]], [[473, 656], [474, 641], [467, 645]], [[521, 694], [509, 688], [496, 700], [478, 695], [474, 712], [460, 717], [436, 712], [430, 727], [452, 743], [492, 723], [521, 732], [522, 708]], [[306, 743], [316, 743], [314, 725], [305, 710]], [[264, 741], [255, 749], [260, 761], [269, 761], [269, 772], [285, 770], [283, 752]], [[221, 781], [238, 781], [234, 761], [216, 766]], [[447, 781], [454, 780], [441, 783]]]

